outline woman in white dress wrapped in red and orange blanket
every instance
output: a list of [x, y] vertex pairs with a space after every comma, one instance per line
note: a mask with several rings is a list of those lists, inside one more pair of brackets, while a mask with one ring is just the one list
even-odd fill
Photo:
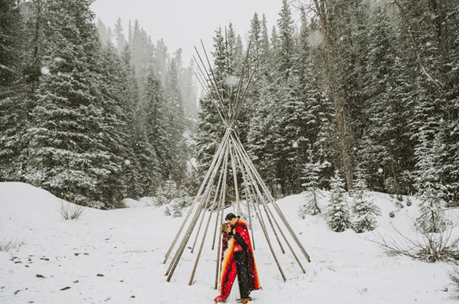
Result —
[[235, 303], [241, 300], [241, 294], [239, 292], [238, 271], [236, 268], [236, 260], [234, 259], [234, 252], [242, 250], [242, 247], [234, 243], [230, 224], [223, 223], [220, 232], [223, 235], [221, 248], [220, 295], [217, 296], [214, 301], [216, 303], [221, 301]]

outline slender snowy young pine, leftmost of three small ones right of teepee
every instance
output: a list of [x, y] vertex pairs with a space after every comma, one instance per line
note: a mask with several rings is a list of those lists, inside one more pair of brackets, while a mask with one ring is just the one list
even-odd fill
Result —
[[308, 160], [302, 170], [302, 187], [306, 189], [304, 197], [306, 204], [302, 205], [299, 210], [299, 215], [304, 218], [306, 214], [316, 215], [320, 214], [320, 208], [318, 204], [320, 189], [319, 189], [319, 173], [322, 165], [319, 162], [314, 162], [313, 151], [308, 149]]

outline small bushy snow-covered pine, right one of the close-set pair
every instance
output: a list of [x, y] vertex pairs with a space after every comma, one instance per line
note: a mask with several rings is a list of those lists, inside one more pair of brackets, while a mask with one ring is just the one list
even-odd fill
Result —
[[358, 169], [354, 176], [355, 183], [351, 198], [354, 216], [352, 229], [356, 233], [372, 231], [377, 227], [376, 216], [381, 215], [381, 210], [366, 193], [367, 183], [363, 178], [363, 172]]

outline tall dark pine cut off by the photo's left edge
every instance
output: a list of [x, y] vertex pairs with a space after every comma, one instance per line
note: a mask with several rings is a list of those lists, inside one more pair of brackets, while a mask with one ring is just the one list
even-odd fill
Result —
[[21, 15], [25, 5], [0, 2], [0, 182], [22, 180], [20, 154], [28, 145], [23, 134], [29, 128], [34, 104], [30, 91], [39, 73], [28, 54], [32, 31]]

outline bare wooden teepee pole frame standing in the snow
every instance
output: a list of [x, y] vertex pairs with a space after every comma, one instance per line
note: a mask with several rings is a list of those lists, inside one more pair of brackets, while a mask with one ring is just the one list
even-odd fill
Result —
[[[289, 222], [285, 218], [284, 214], [282, 213], [281, 209], [278, 207], [276, 200], [271, 195], [268, 190], [268, 187], [263, 182], [260, 174], [254, 167], [253, 163], [251, 162], [250, 158], [248, 157], [247, 151], [244, 149], [237, 132], [234, 130], [234, 127], [237, 123], [237, 118], [242, 110], [242, 106], [244, 104], [245, 96], [254, 80], [258, 72], [258, 67], [254, 68], [252, 71], [248, 72], [248, 79], [246, 81], [245, 86], [243, 85], [244, 82], [244, 75], [245, 69], [247, 68], [248, 62], [248, 50], [250, 48], [250, 41], [247, 47], [247, 53], [245, 57], [245, 62], [242, 68], [242, 76], [239, 79], [238, 86], [236, 92], [231, 89], [230, 92], [230, 101], [225, 106], [224, 98], [222, 94], [222, 88], [219, 86], [218, 82], [216, 81], [214, 71], [212, 69], [211, 63], [209, 61], [209, 57], [206, 52], [206, 48], [201, 41], [202, 50], [204, 57], [201, 57], [197, 48], [195, 47], [197, 58], [193, 56], [197, 67], [198, 73], [196, 74], [196, 78], [198, 79], [202, 89], [205, 93], [212, 98], [218, 114], [223, 121], [225, 126], [225, 133], [223, 138], [220, 142], [220, 145], [217, 148], [217, 151], [213, 157], [212, 163], [207, 170], [205, 178], [199, 187], [199, 190], [193, 199], [192, 205], [189, 208], [185, 218], [182, 222], [182, 225], [177, 231], [175, 238], [173, 239], [166, 256], [164, 258], [163, 264], [166, 264], [168, 261], [173, 248], [175, 247], [179, 237], [182, 235], [185, 225], [188, 223], [188, 228], [182, 236], [181, 242], [179, 243], [175, 254], [173, 255], [169, 267], [165, 275], [167, 276], [166, 281], [170, 282], [171, 277], [175, 271], [175, 268], [180, 262], [182, 254], [190, 241], [190, 237], [192, 232], [195, 229], [196, 224], [199, 222], [197, 227], [196, 237], [194, 239], [193, 245], [191, 247], [191, 253], [194, 252], [195, 246], [198, 240], [198, 236], [202, 235], [201, 242], [199, 244], [198, 252], [196, 254], [196, 260], [194, 263], [193, 271], [190, 276], [189, 285], [193, 283], [194, 275], [197, 270], [197, 265], [199, 263], [199, 258], [201, 256], [202, 248], [204, 245], [204, 241], [206, 239], [209, 226], [211, 223], [212, 215], [215, 213], [215, 226], [213, 232], [213, 242], [212, 242], [212, 250], [215, 247], [215, 241], [217, 240], [218, 248], [216, 250], [216, 269], [215, 269], [215, 285], [214, 288], [217, 289], [218, 280], [219, 280], [219, 271], [220, 271], [220, 255], [221, 255], [221, 242], [218, 241], [217, 238], [217, 227], [219, 223], [223, 222], [223, 212], [224, 212], [224, 201], [226, 198], [226, 180], [228, 178], [228, 169], [231, 169], [234, 181], [234, 191], [236, 194], [236, 201], [235, 207], [238, 214], [241, 214], [241, 199], [239, 193], [239, 185], [238, 185], [238, 178], [237, 174], [240, 173], [242, 175], [242, 188], [245, 195], [245, 203], [247, 204], [247, 211], [248, 211], [248, 219], [249, 219], [249, 227], [250, 227], [250, 235], [253, 242], [253, 248], [255, 249], [255, 239], [253, 238], [253, 230], [252, 230], [252, 223], [251, 223], [251, 213], [253, 212], [258, 219], [260, 226], [262, 228], [263, 234], [265, 239], [268, 243], [269, 249], [271, 254], [276, 262], [276, 265], [281, 273], [281, 276], [286, 281], [286, 277], [284, 271], [282, 270], [281, 264], [279, 263], [276, 254], [274, 252], [273, 245], [271, 243], [271, 238], [268, 233], [268, 226], [265, 219], [268, 220], [269, 226], [273, 232], [273, 235], [278, 243], [279, 247], [283, 254], [285, 254], [285, 249], [282, 245], [281, 239], [279, 239], [279, 235], [284, 240], [285, 244], [289, 248], [291, 254], [293, 255], [296, 263], [298, 264], [299, 268], [301, 269], [302, 273], [305, 273], [303, 266], [295, 254], [294, 249], [292, 248], [291, 244], [289, 243], [284, 231], [281, 227], [281, 224], [287, 229], [290, 233], [292, 239], [300, 249], [304, 258], [311, 262], [310, 257], [306, 250], [304, 249], [303, 245], [298, 240], [297, 236], [295, 235], [292, 227], [290, 226]], [[230, 176], [231, 178], [231, 176]], [[274, 210], [274, 212], [272, 211]], [[263, 211], [265, 217], [263, 215]], [[190, 219], [190, 216], [193, 216]], [[207, 215], [207, 221], [205, 222], [205, 217]], [[277, 217], [277, 218], [276, 218]], [[200, 218], [200, 219], [199, 219]], [[279, 224], [279, 222], [281, 224]], [[203, 227], [203, 223], [205, 223], [204, 231], [201, 234], [201, 229]]]

